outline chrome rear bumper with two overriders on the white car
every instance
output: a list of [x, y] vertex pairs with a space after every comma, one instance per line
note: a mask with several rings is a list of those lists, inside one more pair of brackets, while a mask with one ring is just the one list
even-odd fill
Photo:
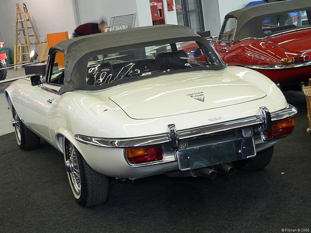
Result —
[[[263, 109], [261, 107], [260, 109]], [[137, 138], [96, 138], [84, 135], [75, 135], [75, 139], [79, 142], [85, 144], [91, 144], [101, 147], [109, 147], [109, 148], [127, 148], [127, 147], [139, 147], [139, 146], [150, 146], [150, 145], [157, 145], [157, 144], [167, 144], [174, 145], [175, 149], [178, 147], [178, 140], [180, 139], [188, 139], [203, 135], [210, 135], [213, 133], [219, 133], [227, 130], [239, 130], [245, 127], [260, 127], [265, 128], [265, 124], [267, 120], [265, 116], [260, 115], [262, 110], [259, 111], [259, 115], [252, 116], [252, 117], [245, 117], [233, 121], [226, 121], [221, 122], [218, 124], [208, 125], [208, 126], [201, 126], [198, 128], [186, 129], [186, 130], [174, 130], [174, 125], [169, 125], [169, 133], [165, 134], [158, 134], [158, 135], [150, 135], [150, 136], [143, 136]], [[267, 109], [267, 108], [266, 108]], [[272, 112], [271, 114], [271, 121], [279, 121], [285, 119], [287, 117], [292, 117], [297, 113], [297, 109], [292, 105], [288, 104], [286, 108], [279, 110], [277, 112]], [[269, 114], [269, 115], [270, 115]], [[270, 118], [270, 117], [269, 117]], [[270, 121], [270, 119], [269, 119]], [[177, 137], [176, 135], [177, 134]], [[176, 140], [175, 142], [172, 139]]]

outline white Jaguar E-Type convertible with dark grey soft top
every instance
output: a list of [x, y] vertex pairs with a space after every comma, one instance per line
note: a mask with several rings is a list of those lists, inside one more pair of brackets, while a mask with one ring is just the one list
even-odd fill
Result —
[[[186, 42], [197, 48], [179, 49]], [[60, 42], [45, 76], [19, 79], [5, 96], [20, 148], [42, 138], [64, 153], [82, 206], [105, 202], [108, 177], [262, 169], [297, 113], [266, 76], [228, 67], [210, 42], [176, 25]]]

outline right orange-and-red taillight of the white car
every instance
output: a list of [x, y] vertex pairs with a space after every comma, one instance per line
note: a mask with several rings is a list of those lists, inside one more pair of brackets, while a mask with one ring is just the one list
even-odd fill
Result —
[[270, 130], [263, 133], [265, 140], [290, 135], [294, 131], [295, 121], [290, 117], [272, 124]]

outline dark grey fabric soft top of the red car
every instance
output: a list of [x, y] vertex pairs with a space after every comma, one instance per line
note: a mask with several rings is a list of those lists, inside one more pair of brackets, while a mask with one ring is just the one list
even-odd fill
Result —
[[233, 39], [233, 42], [237, 42], [247, 38], [259, 39], [271, 36], [272, 34], [267, 35], [262, 31], [262, 22], [269, 16], [308, 9], [311, 9], [310, 0], [287, 0], [264, 3], [231, 11], [225, 18], [233, 17], [237, 20]]

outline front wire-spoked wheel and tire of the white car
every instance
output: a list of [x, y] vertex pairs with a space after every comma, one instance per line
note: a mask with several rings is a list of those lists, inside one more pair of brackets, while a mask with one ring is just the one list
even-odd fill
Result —
[[32, 150], [40, 146], [40, 137], [28, 129], [17, 115], [12, 105], [12, 123], [15, 128], [17, 144], [22, 150]]

